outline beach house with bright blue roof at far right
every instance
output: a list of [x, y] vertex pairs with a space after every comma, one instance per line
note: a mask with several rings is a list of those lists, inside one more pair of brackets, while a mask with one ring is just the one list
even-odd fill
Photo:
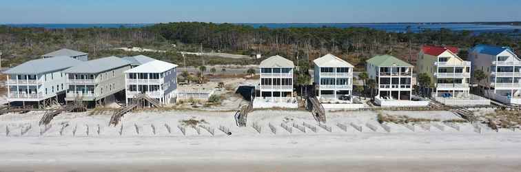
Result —
[[487, 89], [484, 96], [507, 105], [521, 105], [521, 59], [511, 48], [476, 45], [469, 51], [469, 59], [472, 71], [480, 69], [487, 76], [473, 80]]

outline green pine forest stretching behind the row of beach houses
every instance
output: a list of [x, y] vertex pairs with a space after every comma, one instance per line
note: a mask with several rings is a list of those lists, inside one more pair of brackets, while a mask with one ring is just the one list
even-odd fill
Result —
[[[227, 52], [232, 54], [280, 54], [299, 65], [311, 65], [314, 58], [331, 53], [360, 69], [364, 61], [376, 54], [392, 54], [414, 64], [420, 46], [451, 45], [467, 49], [476, 44], [502, 45], [519, 50], [521, 33], [483, 33], [469, 31], [424, 30], [385, 32], [370, 28], [253, 28], [228, 23], [159, 23], [144, 28], [11, 28], [0, 26], [0, 51], [3, 67], [17, 65], [42, 54], [66, 47], [88, 52], [90, 58], [145, 54], [163, 61], [183, 63], [177, 52]], [[114, 50], [117, 47], [145, 47], [165, 53], [137, 53]], [[202, 48], [201, 48], [202, 47]], [[200, 58], [187, 56], [187, 65], [201, 65]], [[306, 63], [307, 62], [307, 63]], [[207, 65], [256, 64], [258, 61], [208, 57]]]

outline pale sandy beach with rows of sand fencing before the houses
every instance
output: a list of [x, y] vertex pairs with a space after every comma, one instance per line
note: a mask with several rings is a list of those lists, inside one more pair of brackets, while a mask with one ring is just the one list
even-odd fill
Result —
[[[446, 111], [402, 111], [388, 114], [457, 118]], [[53, 120], [53, 127], [39, 136], [37, 122], [41, 114], [0, 116], [0, 171], [519, 171], [521, 169], [521, 132], [484, 129], [476, 133], [469, 124], [461, 131], [446, 127], [444, 131], [416, 132], [390, 124], [391, 132], [382, 127], [362, 132], [349, 127], [343, 131], [336, 123], [354, 122], [377, 125], [371, 111], [328, 114], [333, 131], [318, 127], [306, 133], [293, 128], [288, 133], [280, 126], [307, 122], [315, 125], [306, 111], [254, 111], [249, 125], [263, 126], [257, 133], [252, 127], [234, 126], [232, 113], [170, 111], [127, 114], [123, 133], [107, 127], [110, 116], [65, 114]], [[205, 119], [216, 128], [211, 136], [202, 130], [198, 135], [187, 128], [187, 136], [176, 129], [179, 120]], [[60, 136], [61, 124], [68, 123]], [[276, 125], [277, 134], [267, 125]], [[21, 135], [23, 126], [33, 129]], [[90, 134], [85, 134], [85, 124]], [[140, 132], [136, 133], [138, 126]], [[169, 124], [168, 133], [161, 125]], [[6, 125], [12, 133], [6, 137]], [[96, 127], [100, 125], [100, 134]], [[156, 133], [151, 125], [156, 126]], [[229, 127], [232, 136], [218, 131]], [[72, 127], [76, 135], [72, 136]], [[81, 127], [83, 126], [83, 127]]]

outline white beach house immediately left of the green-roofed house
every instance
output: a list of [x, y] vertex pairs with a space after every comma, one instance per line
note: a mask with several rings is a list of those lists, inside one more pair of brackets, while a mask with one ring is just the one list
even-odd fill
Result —
[[327, 54], [314, 61], [317, 98], [325, 108], [349, 108], [353, 103], [353, 68], [347, 61]]

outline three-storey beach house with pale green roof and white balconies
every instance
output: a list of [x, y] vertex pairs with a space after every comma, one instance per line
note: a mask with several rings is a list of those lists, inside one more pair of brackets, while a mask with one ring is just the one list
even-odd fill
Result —
[[366, 61], [369, 78], [376, 81], [374, 103], [382, 107], [422, 107], [428, 101], [412, 95], [413, 65], [394, 56], [374, 56]]

